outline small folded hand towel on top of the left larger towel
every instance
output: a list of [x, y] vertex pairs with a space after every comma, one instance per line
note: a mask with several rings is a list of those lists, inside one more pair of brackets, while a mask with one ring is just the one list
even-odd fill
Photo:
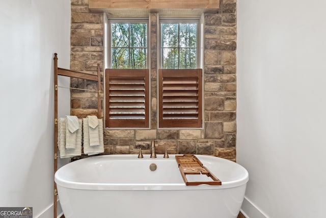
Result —
[[75, 149], [76, 148], [76, 135], [79, 128], [79, 122], [77, 116], [66, 116], [66, 149]]

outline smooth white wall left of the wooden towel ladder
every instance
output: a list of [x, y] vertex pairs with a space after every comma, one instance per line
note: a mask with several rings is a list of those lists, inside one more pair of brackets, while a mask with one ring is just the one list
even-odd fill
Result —
[[0, 206], [52, 217], [53, 53], [69, 68], [70, 1], [1, 1], [0, 28]]

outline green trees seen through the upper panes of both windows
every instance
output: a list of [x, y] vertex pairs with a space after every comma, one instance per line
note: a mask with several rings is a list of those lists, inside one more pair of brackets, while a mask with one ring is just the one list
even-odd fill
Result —
[[[161, 23], [161, 67], [197, 68], [197, 28], [195, 22]], [[147, 68], [147, 23], [111, 23], [111, 67]]]

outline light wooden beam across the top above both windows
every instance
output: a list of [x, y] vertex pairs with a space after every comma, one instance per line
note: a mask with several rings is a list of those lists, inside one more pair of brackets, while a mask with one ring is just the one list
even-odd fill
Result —
[[219, 0], [89, 0], [90, 9], [216, 9]]

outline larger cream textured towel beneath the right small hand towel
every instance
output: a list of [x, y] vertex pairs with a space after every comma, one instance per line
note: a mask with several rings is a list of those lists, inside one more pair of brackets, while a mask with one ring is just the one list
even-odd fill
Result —
[[83, 131], [84, 131], [84, 154], [94, 155], [100, 154], [104, 152], [104, 142], [103, 142], [103, 123], [102, 119], [98, 119], [98, 137], [99, 137], [99, 145], [98, 146], [90, 146], [90, 132], [89, 132], [89, 124], [88, 118], [83, 118]]

